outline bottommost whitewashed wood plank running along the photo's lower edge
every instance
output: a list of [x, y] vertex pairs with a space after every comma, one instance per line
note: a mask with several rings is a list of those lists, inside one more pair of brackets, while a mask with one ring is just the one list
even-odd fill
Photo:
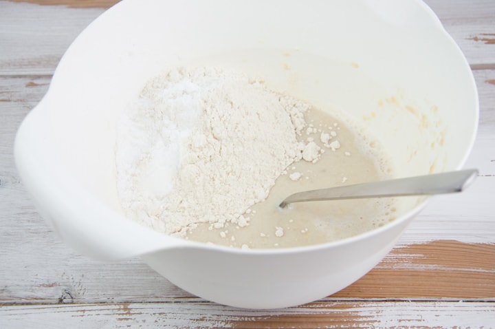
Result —
[[174, 303], [3, 306], [13, 328], [492, 328], [495, 303], [483, 301], [318, 301], [296, 308], [239, 310], [184, 299]]

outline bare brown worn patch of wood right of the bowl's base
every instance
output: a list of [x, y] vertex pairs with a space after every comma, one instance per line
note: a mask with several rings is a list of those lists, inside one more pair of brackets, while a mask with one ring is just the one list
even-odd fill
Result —
[[435, 241], [397, 246], [332, 297], [495, 300], [495, 244]]

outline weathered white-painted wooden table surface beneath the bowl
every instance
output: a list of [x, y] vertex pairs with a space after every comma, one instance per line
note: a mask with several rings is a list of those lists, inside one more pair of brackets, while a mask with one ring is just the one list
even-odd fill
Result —
[[495, 1], [427, 1], [478, 84], [481, 120], [465, 166], [480, 171], [474, 185], [434, 198], [355, 284], [271, 311], [192, 296], [140, 259], [79, 255], [48, 229], [19, 182], [17, 127], [71, 41], [115, 2], [0, 1], [0, 328], [495, 328]]

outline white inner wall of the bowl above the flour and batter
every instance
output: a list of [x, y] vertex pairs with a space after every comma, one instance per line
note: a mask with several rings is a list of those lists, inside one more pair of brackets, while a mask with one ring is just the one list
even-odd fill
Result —
[[397, 176], [458, 169], [476, 134], [469, 66], [419, 1], [124, 0], [78, 36], [32, 113], [39, 162], [120, 211], [115, 120], [181, 65], [242, 70], [335, 112]]

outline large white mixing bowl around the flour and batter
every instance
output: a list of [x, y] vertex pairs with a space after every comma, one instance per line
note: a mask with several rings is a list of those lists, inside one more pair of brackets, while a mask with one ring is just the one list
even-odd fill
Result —
[[100, 259], [139, 256], [185, 290], [243, 308], [325, 297], [391, 250], [424, 200], [397, 220], [338, 242], [239, 250], [162, 235], [122, 215], [115, 118], [166, 67], [216, 65], [263, 76], [366, 127], [397, 176], [462, 167], [478, 123], [463, 54], [417, 0], [124, 0], [78, 36], [21, 125], [15, 157], [40, 213]]

